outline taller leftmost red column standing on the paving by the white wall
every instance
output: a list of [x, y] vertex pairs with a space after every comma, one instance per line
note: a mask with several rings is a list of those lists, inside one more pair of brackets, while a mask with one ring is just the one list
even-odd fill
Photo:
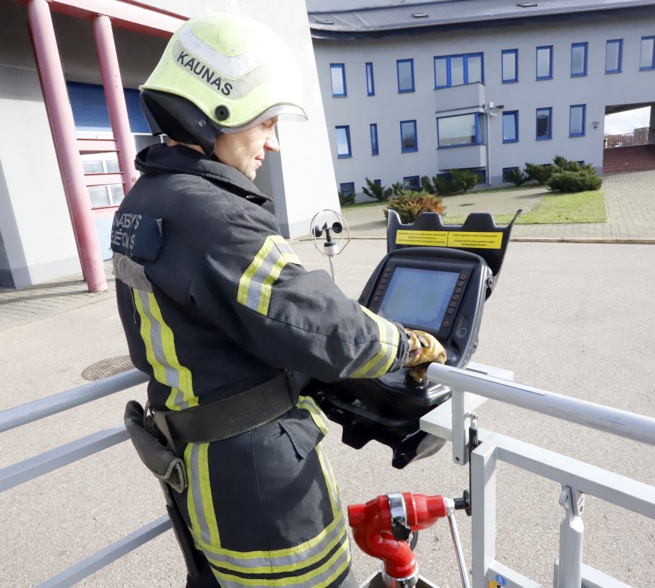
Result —
[[82, 263], [88, 291], [102, 292], [107, 290], [107, 278], [100, 254], [98, 233], [93, 222], [91, 199], [84, 182], [84, 168], [77, 149], [75, 121], [72, 118], [66, 79], [63, 77], [59, 47], [47, 1], [28, 0], [27, 15], [52, 139], [77, 239], [79, 261]]

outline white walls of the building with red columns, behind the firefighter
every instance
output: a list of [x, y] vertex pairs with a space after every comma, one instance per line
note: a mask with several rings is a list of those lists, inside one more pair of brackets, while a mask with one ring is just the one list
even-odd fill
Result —
[[[282, 34], [305, 73], [309, 121], [279, 124], [282, 152], [268, 158], [259, 185], [275, 199], [285, 236], [307, 233], [318, 210], [338, 209], [305, 1], [289, 0], [284, 10], [265, 0], [149, 3], [189, 17], [210, 11], [245, 14]], [[0, 36], [0, 286], [20, 288], [77, 272], [79, 261], [25, 6], [6, 3], [3, 20], [7, 26]], [[91, 23], [63, 15], [54, 15], [54, 22], [66, 79], [100, 84]], [[114, 36], [123, 85], [135, 88], [154, 68], [166, 42], [122, 29], [115, 29]]]

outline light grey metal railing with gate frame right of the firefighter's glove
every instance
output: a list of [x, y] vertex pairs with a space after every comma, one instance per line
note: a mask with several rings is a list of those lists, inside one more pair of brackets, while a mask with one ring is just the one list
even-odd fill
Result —
[[[472, 369], [473, 368], [473, 369]], [[495, 373], [494, 373], [495, 372]], [[498, 369], [470, 364], [468, 370], [431, 364], [428, 377], [452, 388], [452, 400], [421, 419], [428, 433], [452, 440], [453, 461], [469, 461], [467, 423], [485, 399], [534, 410], [606, 433], [655, 445], [655, 419], [498, 378]], [[511, 372], [507, 372], [511, 378]], [[475, 419], [474, 419], [475, 420]], [[539, 584], [495, 559], [495, 479], [503, 461], [562, 485], [560, 552], [555, 559], [555, 588], [629, 588], [616, 578], [583, 563], [585, 495], [655, 520], [655, 487], [608, 472], [577, 459], [479, 429], [479, 445], [470, 453], [472, 510], [472, 585], [487, 588], [539, 588]], [[498, 581], [500, 577], [501, 581]]]

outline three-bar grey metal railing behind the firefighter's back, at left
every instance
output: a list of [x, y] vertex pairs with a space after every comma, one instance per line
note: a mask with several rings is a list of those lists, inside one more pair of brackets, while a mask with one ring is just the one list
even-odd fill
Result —
[[[132, 369], [117, 376], [110, 376], [97, 382], [66, 390], [66, 392], [47, 396], [44, 399], [3, 410], [3, 412], [0, 412], [0, 433], [105, 398], [105, 396], [143, 384], [147, 380], [148, 377], [145, 373]], [[98, 451], [113, 447], [127, 439], [128, 433], [125, 431], [125, 425], [119, 424], [5, 467], [0, 470], [0, 493], [26, 481], [43, 476], [43, 474], [52, 472], [59, 467], [91, 456], [98, 453]], [[54, 575], [49, 580], [39, 584], [38, 587], [69, 587], [111, 564], [111, 562], [115, 562], [116, 559], [123, 557], [130, 551], [144, 545], [144, 543], [154, 539], [170, 527], [171, 521], [168, 515], [157, 518], [152, 523], [144, 525], [144, 527], [137, 529], [137, 531], [123, 537], [123, 539], [111, 543], [111, 545], [94, 555], [86, 557], [81, 562], [77, 562], [70, 568]]]

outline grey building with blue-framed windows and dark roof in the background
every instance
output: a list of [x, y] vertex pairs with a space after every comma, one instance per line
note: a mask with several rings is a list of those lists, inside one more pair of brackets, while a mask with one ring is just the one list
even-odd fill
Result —
[[[450, 169], [500, 185], [507, 169], [556, 155], [602, 171], [605, 115], [655, 103], [655, 2], [599, 6], [457, 0], [310, 13], [341, 191]], [[650, 128], [655, 137], [655, 109]]]

